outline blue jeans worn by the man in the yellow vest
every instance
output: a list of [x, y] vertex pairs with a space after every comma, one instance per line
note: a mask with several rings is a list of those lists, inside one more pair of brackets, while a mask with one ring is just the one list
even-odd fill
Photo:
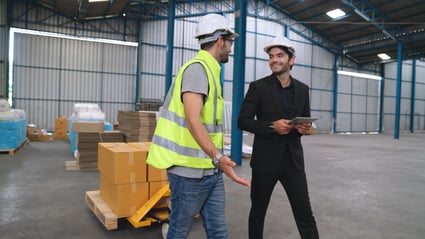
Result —
[[201, 214], [208, 239], [227, 239], [222, 173], [203, 178], [169, 173], [168, 180], [171, 213], [167, 239], [186, 239], [197, 214]]

